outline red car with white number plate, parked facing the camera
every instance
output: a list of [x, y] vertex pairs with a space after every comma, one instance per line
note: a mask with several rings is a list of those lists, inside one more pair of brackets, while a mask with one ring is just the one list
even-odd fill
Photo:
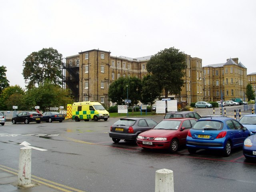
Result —
[[194, 118], [164, 119], [154, 129], [140, 133], [136, 141], [144, 149], [168, 149], [176, 152], [180, 145], [186, 144], [188, 131], [195, 123]]

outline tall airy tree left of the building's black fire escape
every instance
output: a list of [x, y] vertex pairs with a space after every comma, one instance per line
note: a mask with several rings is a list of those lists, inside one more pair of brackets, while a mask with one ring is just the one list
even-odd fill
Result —
[[53, 84], [62, 83], [62, 54], [53, 48], [43, 48], [38, 52], [32, 52], [23, 61], [22, 75], [27, 88], [35, 84], [42, 86], [46, 80]]

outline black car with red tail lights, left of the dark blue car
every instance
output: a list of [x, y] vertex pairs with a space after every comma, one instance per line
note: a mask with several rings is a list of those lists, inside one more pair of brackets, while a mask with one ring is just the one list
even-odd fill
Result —
[[36, 111], [22, 111], [18, 113], [16, 117], [12, 118], [12, 124], [24, 122], [29, 124], [30, 122], [40, 123], [42, 120], [42, 114]]

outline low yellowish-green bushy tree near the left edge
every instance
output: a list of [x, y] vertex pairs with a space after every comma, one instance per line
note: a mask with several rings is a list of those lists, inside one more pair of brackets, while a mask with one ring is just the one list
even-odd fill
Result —
[[24, 94], [24, 90], [18, 85], [5, 88], [0, 96], [0, 110], [12, 110], [12, 106], [18, 106], [18, 109], [21, 107], [22, 110]]

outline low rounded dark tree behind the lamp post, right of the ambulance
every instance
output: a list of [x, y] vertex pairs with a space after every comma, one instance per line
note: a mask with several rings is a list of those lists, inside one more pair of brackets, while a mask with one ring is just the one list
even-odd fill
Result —
[[131, 106], [138, 104], [141, 98], [142, 82], [137, 77], [120, 77], [109, 86], [108, 98], [111, 102], [118, 105], [124, 104], [124, 100], [127, 98], [131, 100]]

